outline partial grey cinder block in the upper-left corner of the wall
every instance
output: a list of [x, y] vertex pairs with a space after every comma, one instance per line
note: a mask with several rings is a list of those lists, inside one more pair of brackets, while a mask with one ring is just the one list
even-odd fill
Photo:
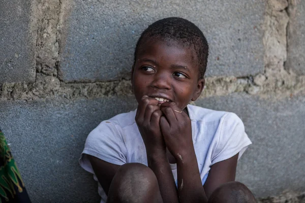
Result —
[[30, 7], [31, 1], [0, 1], [0, 84], [35, 80]]

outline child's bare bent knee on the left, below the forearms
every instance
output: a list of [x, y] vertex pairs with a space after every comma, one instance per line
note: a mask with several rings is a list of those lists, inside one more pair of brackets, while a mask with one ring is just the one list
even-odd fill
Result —
[[107, 202], [159, 203], [163, 201], [154, 172], [141, 163], [127, 163], [120, 166], [113, 177]]

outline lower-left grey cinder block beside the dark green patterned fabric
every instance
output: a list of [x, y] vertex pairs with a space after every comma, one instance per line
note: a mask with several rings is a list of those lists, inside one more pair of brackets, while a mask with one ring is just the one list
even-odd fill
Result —
[[99, 202], [97, 182], [78, 164], [85, 139], [101, 121], [135, 108], [135, 99], [117, 97], [0, 101], [0, 126], [32, 202]]

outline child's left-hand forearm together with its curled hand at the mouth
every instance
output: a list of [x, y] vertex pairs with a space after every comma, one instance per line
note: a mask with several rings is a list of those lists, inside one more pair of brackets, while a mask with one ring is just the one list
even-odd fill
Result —
[[166, 155], [166, 145], [160, 128], [162, 112], [158, 100], [143, 96], [136, 123], [145, 144], [148, 167], [155, 173], [163, 202], [178, 202], [175, 181]]

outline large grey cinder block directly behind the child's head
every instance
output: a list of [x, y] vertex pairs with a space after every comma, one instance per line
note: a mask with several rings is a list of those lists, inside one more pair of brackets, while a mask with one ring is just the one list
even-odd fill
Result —
[[247, 76], [264, 69], [265, 1], [74, 1], [60, 70], [65, 81], [130, 78], [141, 32], [178, 16], [203, 31], [210, 45], [207, 76]]

